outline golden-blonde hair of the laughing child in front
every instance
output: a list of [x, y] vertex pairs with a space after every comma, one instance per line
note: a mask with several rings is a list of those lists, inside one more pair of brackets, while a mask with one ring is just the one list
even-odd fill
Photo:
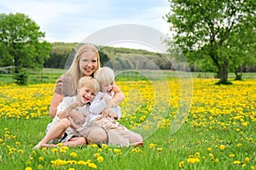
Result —
[[82, 77], [82, 78], [80, 78], [79, 79], [79, 88], [94, 89], [95, 94], [97, 94], [101, 89], [99, 82], [97, 82], [94, 77]]

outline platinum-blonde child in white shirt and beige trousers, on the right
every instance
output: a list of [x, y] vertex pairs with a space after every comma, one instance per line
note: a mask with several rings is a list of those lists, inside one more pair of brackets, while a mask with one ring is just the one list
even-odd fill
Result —
[[77, 131], [84, 135], [86, 127], [101, 126], [108, 133], [108, 144], [120, 145], [121, 147], [131, 144], [143, 145], [143, 138], [140, 134], [134, 133], [116, 122], [121, 117], [121, 111], [119, 106], [111, 107], [110, 103], [110, 99], [113, 97], [113, 70], [109, 67], [102, 67], [96, 71], [94, 76], [101, 86], [101, 92], [96, 94], [90, 105], [90, 116], [88, 116], [87, 122]]

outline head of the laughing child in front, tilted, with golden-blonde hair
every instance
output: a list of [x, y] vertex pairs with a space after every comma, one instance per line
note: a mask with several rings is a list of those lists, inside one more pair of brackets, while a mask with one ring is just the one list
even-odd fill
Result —
[[82, 77], [79, 79], [78, 100], [84, 105], [94, 99], [100, 91], [100, 85], [93, 77]]

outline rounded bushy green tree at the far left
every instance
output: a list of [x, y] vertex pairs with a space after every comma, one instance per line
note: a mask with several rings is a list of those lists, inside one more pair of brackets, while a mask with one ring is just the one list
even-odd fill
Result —
[[26, 14], [0, 14], [0, 65], [43, 67], [49, 58], [50, 43], [44, 32]]

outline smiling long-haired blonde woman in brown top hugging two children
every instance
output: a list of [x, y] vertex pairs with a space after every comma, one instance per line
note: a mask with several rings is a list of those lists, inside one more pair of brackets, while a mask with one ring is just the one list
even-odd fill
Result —
[[[98, 68], [100, 68], [100, 55], [96, 47], [92, 44], [82, 45], [75, 54], [73, 63], [67, 73], [59, 77], [56, 82], [55, 94], [49, 106], [49, 116], [55, 116], [57, 106], [61, 103], [63, 97], [76, 95], [80, 77], [93, 77]], [[117, 106], [125, 99], [125, 95], [116, 85], [114, 85], [113, 92], [115, 95], [111, 100], [111, 105]], [[82, 114], [71, 116], [77, 124], [84, 122]], [[67, 114], [62, 113], [59, 117], [67, 117]], [[90, 127], [87, 139], [96, 144], [108, 143], [108, 135], [102, 127]]]

